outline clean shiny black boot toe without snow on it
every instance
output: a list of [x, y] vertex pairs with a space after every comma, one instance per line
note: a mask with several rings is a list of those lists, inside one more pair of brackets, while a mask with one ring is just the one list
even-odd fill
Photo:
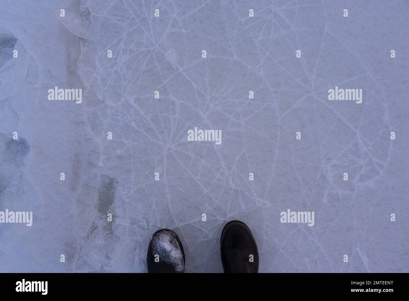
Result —
[[225, 273], [258, 273], [258, 250], [252, 231], [244, 222], [232, 220], [223, 228], [220, 255]]

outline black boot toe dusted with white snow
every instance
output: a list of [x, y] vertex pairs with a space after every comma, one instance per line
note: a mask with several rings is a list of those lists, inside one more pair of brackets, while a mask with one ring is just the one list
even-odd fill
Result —
[[148, 273], [183, 273], [184, 251], [178, 235], [169, 229], [156, 231], [149, 243]]

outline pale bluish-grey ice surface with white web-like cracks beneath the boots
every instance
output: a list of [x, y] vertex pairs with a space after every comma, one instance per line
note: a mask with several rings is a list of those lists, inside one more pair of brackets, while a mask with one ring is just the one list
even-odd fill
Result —
[[403, 0], [2, 0], [0, 210], [34, 223], [0, 224], [0, 272], [146, 272], [160, 228], [187, 272], [222, 272], [233, 219], [260, 272], [408, 272], [408, 20]]

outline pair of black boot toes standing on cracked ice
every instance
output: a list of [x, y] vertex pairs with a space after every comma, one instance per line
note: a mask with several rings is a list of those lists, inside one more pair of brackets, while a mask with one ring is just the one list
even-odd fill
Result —
[[[225, 273], [257, 273], [258, 250], [249, 227], [232, 220], [220, 236], [220, 256]], [[149, 273], [183, 273], [185, 256], [178, 235], [169, 229], [156, 231], [146, 256]]]

